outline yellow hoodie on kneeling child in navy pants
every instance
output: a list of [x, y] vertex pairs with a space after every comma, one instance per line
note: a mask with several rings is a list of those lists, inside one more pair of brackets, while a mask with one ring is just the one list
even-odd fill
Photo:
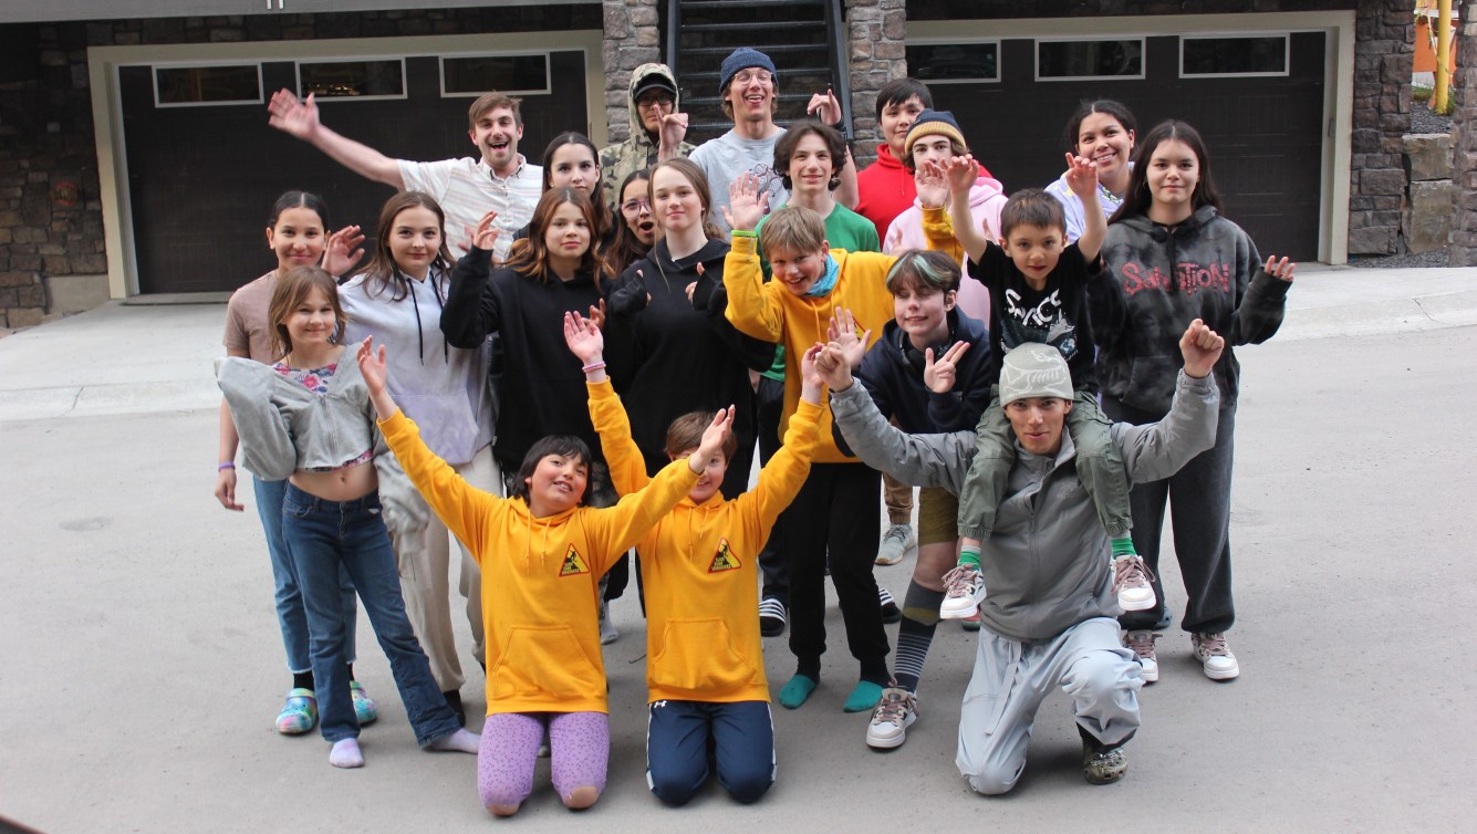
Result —
[[[734, 500], [715, 493], [700, 505], [684, 497], [637, 543], [651, 701], [770, 700], [755, 593], [759, 551], [811, 472], [820, 415], [820, 406], [801, 403], [784, 446], [759, 471], [755, 489]], [[645, 461], [610, 382], [589, 385], [589, 419], [600, 432], [616, 492], [645, 487]]]

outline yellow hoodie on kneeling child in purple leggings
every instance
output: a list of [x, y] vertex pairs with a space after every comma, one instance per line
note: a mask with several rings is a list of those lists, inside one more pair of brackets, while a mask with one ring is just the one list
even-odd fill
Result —
[[431, 453], [411, 418], [380, 421], [405, 474], [482, 565], [487, 714], [609, 711], [600, 654], [600, 577], [697, 483], [687, 461], [616, 506], [533, 518], [523, 499], [484, 493]]

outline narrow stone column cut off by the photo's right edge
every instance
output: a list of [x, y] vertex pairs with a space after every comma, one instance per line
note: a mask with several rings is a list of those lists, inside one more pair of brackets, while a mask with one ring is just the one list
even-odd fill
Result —
[[1452, 78], [1450, 266], [1477, 266], [1477, 4], [1462, 4]]

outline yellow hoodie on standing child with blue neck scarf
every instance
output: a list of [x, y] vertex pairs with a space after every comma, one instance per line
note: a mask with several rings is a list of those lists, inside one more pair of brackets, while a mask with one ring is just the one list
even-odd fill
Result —
[[[728, 310], [724, 314], [738, 332], [784, 345], [784, 413], [780, 416], [783, 431], [801, 402], [801, 357], [815, 342], [829, 341], [826, 329], [837, 307], [851, 310], [860, 329], [871, 331], [867, 347], [882, 337], [882, 328], [894, 317], [886, 278], [897, 258], [877, 252], [832, 249], [830, 254], [840, 267], [836, 286], [821, 298], [811, 298], [790, 292], [778, 280], [765, 283], [756, 248], [756, 238], [734, 236], [733, 248], [724, 261], [724, 288], [728, 291]], [[836, 449], [830, 404], [821, 406], [814, 461], [857, 462], [855, 458], [842, 455], [840, 449]]]

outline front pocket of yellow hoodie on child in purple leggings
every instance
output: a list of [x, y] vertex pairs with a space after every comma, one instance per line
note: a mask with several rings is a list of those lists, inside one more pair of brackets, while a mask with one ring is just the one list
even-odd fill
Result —
[[569, 626], [514, 626], [489, 672], [493, 698], [592, 698], [604, 675]]

